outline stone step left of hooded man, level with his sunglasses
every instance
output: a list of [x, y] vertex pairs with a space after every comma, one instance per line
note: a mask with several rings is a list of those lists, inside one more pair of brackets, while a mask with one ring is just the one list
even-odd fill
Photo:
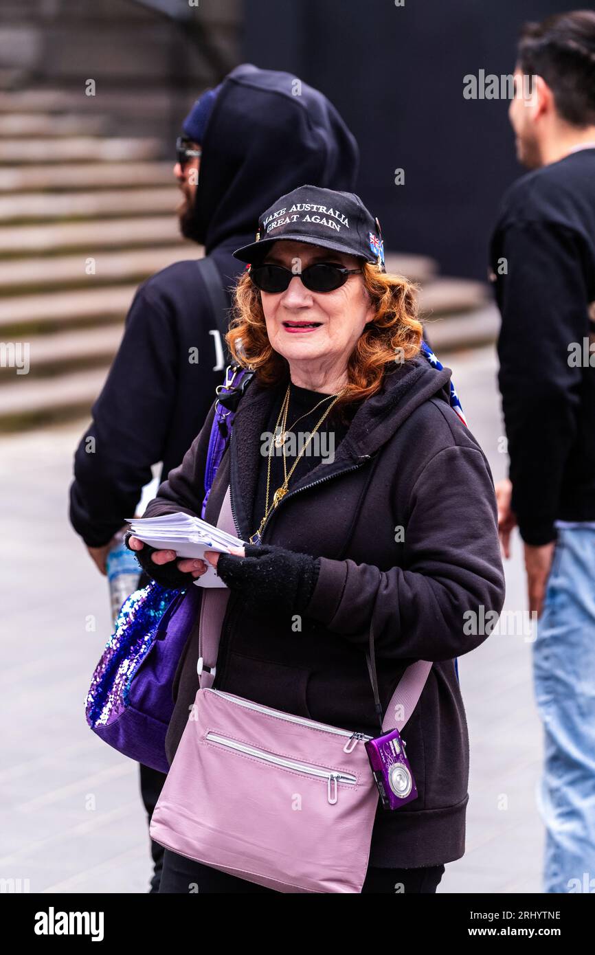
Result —
[[[159, 139], [150, 137], [0, 139], [0, 163], [38, 163], [42, 157], [45, 162], [132, 162], [157, 159], [160, 151]], [[130, 173], [132, 178], [132, 166]]]

